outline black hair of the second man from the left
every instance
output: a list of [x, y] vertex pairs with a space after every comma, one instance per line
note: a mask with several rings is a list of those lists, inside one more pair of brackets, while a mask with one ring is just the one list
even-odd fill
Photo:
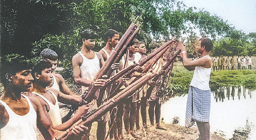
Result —
[[34, 64], [31, 74], [34, 78], [34, 73], [37, 72], [38, 74], [42, 74], [43, 69], [51, 68], [51, 67], [52, 67], [52, 64], [51, 64], [50, 60], [40, 59], [40, 60], [38, 60], [38, 62], [36, 64]]

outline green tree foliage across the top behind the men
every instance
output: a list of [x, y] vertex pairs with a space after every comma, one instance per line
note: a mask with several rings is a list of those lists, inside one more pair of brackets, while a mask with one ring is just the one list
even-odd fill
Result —
[[[2, 55], [19, 53], [35, 57], [42, 49], [51, 48], [60, 60], [70, 61], [80, 50], [82, 29], [90, 28], [103, 36], [108, 29], [125, 32], [131, 22], [140, 25], [138, 38], [147, 44], [152, 35], [169, 40], [195, 28], [211, 38], [227, 35], [244, 39], [241, 31], [217, 15], [186, 7], [176, 0], [3, 0], [1, 4], [1, 46], [5, 48]], [[95, 50], [103, 45], [99, 40]]]

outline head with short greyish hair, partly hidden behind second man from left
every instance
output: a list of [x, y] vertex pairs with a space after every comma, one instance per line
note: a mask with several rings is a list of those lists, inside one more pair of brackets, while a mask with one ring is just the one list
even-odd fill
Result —
[[47, 48], [43, 49], [43, 51], [40, 54], [40, 58], [50, 60], [52, 64], [51, 72], [54, 72], [58, 64], [58, 54], [55, 53], [53, 50]]

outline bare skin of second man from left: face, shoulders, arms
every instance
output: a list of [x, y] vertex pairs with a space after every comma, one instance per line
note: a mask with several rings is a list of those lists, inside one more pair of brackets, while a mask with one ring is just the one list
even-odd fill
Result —
[[[42, 70], [41, 74], [39, 73], [34, 73], [34, 90], [33, 92], [37, 92], [37, 94], [43, 95], [47, 100], [49, 100], [52, 104], [56, 104], [54, 96], [46, 89], [47, 86], [50, 85], [52, 81], [52, 73], [51, 73], [51, 68], [45, 68]], [[61, 93], [58, 90], [51, 89], [52, 93], [56, 95], [58, 98], [59, 102], [63, 102], [64, 104], [70, 104], [70, 105], [78, 105], [79, 102], [82, 100], [81, 97], [80, 99], [70, 96], [70, 95], [65, 95]], [[38, 101], [41, 102], [41, 105], [43, 108], [48, 112], [50, 109], [50, 106], [47, 104], [45, 100], [43, 100], [41, 97], [32, 94], [31, 96], [35, 97], [38, 99]], [[74, 123], [76, 123], [78, 120], [80, 120], [81, 115], [85, 114], [88, 110], [88, 105], [81, 106], [78, 108], [77, 113], [70, 118], [67, 122], [57, 125], [54, 128], [57, 130], [67, 130], [70, 128]]]

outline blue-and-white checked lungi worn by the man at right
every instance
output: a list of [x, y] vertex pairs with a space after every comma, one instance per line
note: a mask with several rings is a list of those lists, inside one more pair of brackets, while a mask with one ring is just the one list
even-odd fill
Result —
[[211, 108], [211, 91], [200, 90], [190, 86], [188, 91], [185, 127], [189, 128], [195, 121], [209, 122]]

